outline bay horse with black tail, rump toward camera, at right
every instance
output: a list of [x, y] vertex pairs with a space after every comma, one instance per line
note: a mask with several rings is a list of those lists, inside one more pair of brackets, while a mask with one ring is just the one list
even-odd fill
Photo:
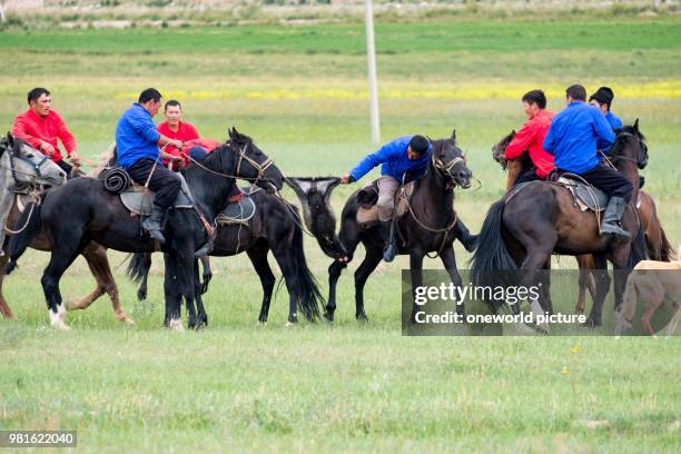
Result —
[[[500, 270], [543, 269], [553, 253], [574, 256], [593, 254], [600, 270], [606, 270], [608, 259], [615, 269], [631, 270], [645, 256], [644, 247], [640, 247], [642, 233], [635, 209], [639, 169], [648, 164], [648, 147], [639, 130], [639, 120], [619, 131], [610, 161], [634, 187], [632, 201], [622, 218], [623, 227], [636, 234], [633, 240], [601, 236], [596, 216], [575, 207], [568, 188], [552, 181], [532, 181], [522, 189], [522, 196], [510, 193], [510, 197], [504, 196], [487, 211], [480, 234], [480, 241], [485, 247], [477, 248], [471, 261], [474, 280], [484, 282], [485, 276]], [[632, 245], [636, 247], [632, 248]], [[622, 302], [625, 278], [623, 273], [615, 273], [615, 308]], [[534, 279], [532, 273], [524, 273], [521, 284], [529, 288]], [[606, 286], [598, 286], [586, 325], [602, 324], [606, 290]], [[549, 292], [549, 288], [544, 287], [544, 292]], [[503, 304], [499, 300], [488, 303], [494, 312]], [[532, 300], [531, 307], [535, 313], [553, 312], [550, 298]], [[520, 310], [517, 305], [513, 305], [512, 309]]]

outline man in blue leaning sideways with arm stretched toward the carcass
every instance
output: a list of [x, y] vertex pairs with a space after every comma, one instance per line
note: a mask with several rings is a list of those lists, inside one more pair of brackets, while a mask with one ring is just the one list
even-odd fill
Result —
[[349, 174], [340, 177], [342, 184], [359, 180], [374, 167], [381, 165], [378, 179], [378, 219], [385, 248], [383, 259], [393, 261], [397, 254], [397, 245], [393, 235], [393, 211], [395, 209], [395, 193], [404, 182], [405, 174], [413, 179], [425, 174], [431, 158], [431, 144], [423, 136], [405, 136], [384, 145], [377, 151], [368, 155]]

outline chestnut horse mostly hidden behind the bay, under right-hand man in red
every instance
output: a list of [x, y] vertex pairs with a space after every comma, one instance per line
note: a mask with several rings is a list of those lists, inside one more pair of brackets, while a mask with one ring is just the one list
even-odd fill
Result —
[[[527, 154], [519, 159], [506, 159], [505, 150], [511, 140], [515, 137], [515, 131], [511, 131], [507, 136], [502, 138], [494, 147], [492, 147], [492, 159], [497, 161], [502, 169], [506, 170], [506, 193], [513, 188], [513, 185], [517, 177], [530, 169], [532, 160]], [[648, 255], [652, 260], [670, 261], [673, 256], [673, 247], [669, 243], [658, 211], [655, 201], [652, 196], [644, 190], [639, 190], [640, 206], [638, 207], [639, 218], [643, 227], [643, 234], [645, 235], [645, 245]], [[591, 294], [592, 299], [595, 297], [595, 274], [592, 273], [596, 268], [596, 263], [593, 255], [585, 254], [575, 257], [580, 267], [580, 279], [579, 279], [579, 295], [575, 303], [575, 314], [583, 314], [585, 307], [586, 290]], [[550, 264], [549, 264], [550, 265]]]

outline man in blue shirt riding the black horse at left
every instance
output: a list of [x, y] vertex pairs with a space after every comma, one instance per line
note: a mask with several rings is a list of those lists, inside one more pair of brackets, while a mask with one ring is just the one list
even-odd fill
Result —
[[116, 126], [116, 148], [118, 164], [126, 169], [135, 181], [148, 185], [154, 194], [154, 210], [142, 223], [145, 230], [154, 239], [166, 241], [161, 223], [168, 208], [175, 204], [181, 180], [174, 171], [165, 168], [160, 160], [158, 146], [172, 145], [182, 148], [180, 140], [170, 139], [157, 131], [154, 116], [161, 106], [161, 93], [148, 88], [139, 96], [139, 101], [128, 108]]

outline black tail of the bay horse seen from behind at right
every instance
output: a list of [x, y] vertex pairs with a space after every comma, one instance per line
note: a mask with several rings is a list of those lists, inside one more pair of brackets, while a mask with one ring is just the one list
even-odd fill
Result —
[[505, 201], [494, 203], [483, 223], [478, 235], [478, 247], [471, 259], [471, 274], [474, 280], [483, 274], [503, 269], [517, 269], [517, 265], [502, 237], [502, 217], [504, 215]]

